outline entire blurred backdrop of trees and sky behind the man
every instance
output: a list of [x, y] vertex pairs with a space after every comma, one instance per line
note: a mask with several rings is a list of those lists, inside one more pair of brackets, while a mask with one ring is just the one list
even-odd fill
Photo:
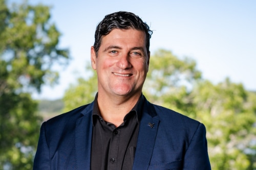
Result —
[[255, 1], [0, 0], [0, 169], [32, 169], [43, 121], [90, 103], [106, 14], [154, 31], [143, 94], [202, 122], [212, 169], [256, 169]]

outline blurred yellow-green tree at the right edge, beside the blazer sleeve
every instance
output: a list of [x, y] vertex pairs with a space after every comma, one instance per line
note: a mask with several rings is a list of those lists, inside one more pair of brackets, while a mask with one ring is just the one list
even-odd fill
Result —
[[[209, 81], [193, 89], [197, 119], [207, 129], [208, 151], [212, 169], [253, 169], [255, 155], [255, 103], [242, 84], [229, 79], [218, 85]], [[253, 106], [254, 105], [254, 106]], [[253, 158], [253, 156], [251, 157]], [[255, 168], [255, 167], [254, 167]]]

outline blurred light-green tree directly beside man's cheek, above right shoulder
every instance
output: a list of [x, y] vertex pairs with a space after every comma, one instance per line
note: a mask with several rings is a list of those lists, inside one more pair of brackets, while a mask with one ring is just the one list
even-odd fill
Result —
[[194, 117], [190, 91], [201, 79], [196, 62], [177, 58], [170, 51], [158, 50], [150, 59], [150, 69], [144, 84], [144, 95], [155, 104], [190, 113]]

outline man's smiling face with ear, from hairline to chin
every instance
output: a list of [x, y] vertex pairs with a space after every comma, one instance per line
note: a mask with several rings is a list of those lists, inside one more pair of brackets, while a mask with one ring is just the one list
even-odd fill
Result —
[[91, 62], [97, 71], [99, 94], [140, 94], [149, 60], [144, 32], [114, 29], [103, 36], [97, 57], [94, 48], [91, 48]]

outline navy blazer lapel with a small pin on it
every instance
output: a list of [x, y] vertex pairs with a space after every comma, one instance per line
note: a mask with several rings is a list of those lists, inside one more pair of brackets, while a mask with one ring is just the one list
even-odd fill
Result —
[[133, 169], [147, 169], [150, 165], [156, 140], [159, 120], [152, 104], [145, 101], [140, 121], [139, 135], [135, 152]]

